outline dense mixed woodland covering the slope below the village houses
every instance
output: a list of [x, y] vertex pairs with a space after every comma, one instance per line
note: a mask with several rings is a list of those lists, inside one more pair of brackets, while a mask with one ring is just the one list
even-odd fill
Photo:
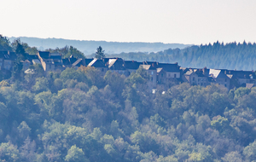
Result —
[[253, 161], [256, 89], [179, 84], [92, 67], [0, 83], [2, 161]]

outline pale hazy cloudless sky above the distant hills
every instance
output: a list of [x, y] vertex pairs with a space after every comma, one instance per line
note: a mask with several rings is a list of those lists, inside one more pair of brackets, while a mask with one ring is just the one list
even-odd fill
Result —
[[0, 34], [116, 42], [256, 42], [256, 0], [0, 0]]

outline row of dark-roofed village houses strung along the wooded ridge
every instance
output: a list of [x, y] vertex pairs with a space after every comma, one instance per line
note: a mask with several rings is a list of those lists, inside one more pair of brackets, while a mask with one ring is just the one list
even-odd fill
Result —
[[[0, 69], [11, 70], [16, 55], [14, 52], [0, 51]], [[220, 84], [228, 90], [243, 86], [252, 88], [256, 84], [256, 76], [253, 71], [236, 71], [227, 69], [208, 69], [180, 67], [177, 63], [159, 63], [156, 61], [124, 61], [121, 58], [100, 59], [76, 59], [73, 56], [62, 59], [59, 53], [39, 51], [37, 55], [26, 55], [26, 61], [21, 61], [23, 70], [31, 72], [32, 64], [41, 64], [45, 72], [63, 71], [67, 67], [79, 68], [95, 67], [102, 74], [108, 70], [118, 72], [128, 77], [131, 72], [136, 72], [139, 67], [148, 72], [148, 86], [152, 89], [157, 87], [169, 88], [173, 84], [187, 82], [191, 85], [206, 87], [211, 83]]]

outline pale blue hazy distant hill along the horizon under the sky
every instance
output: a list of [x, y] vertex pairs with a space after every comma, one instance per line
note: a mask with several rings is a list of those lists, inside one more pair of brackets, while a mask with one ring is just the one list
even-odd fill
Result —
[[[9, 38], [12, 42], [17, 38]], [[96, 48], [102, 46], [106, 54], [119, 54], [122, 52], [158, 52], [164, 49], [184, 49], [192, 44], [182, 43], [120, 43], [106, 41], [79, 41], [62, 38], [27, 38], [20, 37], [20, 41], [28, 43], [29, 46], [37, 47], [40, 50], [61, 48], [66, 45], [72, 45], [84, 53], [90, 55], [96, 51]]]

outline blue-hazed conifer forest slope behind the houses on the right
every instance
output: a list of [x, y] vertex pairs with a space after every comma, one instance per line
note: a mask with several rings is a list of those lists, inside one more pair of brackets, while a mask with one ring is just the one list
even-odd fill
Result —
[[256, 43], [209, 43], [186, 49], [166, 49], [157, 53], [121, 53], [108, 55], [134, 61], [177, 62], [182, 67], [217, 69], [256, 69]]

